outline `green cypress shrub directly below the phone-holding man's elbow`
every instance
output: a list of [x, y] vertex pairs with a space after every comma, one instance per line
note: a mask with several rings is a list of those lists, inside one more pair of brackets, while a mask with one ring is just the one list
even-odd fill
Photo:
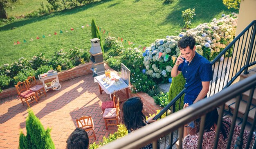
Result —
[[[180, 73], [180, 75], [177, 75], [176, 77], [173, 77], [172, 83], [169, 90], [169, 102], [171, 102], [183, 89], [184, 89], [185, 79]], [[181, 101], [181, 103], [180, 103]], [[180, 104], [180, 108], [179, 108]], [[184, 105], [184, 95], [182, 95], [181, 100], [176, 101], [175, 105], [175, 112], [177, 112], [179, 109], [182, 109]]]

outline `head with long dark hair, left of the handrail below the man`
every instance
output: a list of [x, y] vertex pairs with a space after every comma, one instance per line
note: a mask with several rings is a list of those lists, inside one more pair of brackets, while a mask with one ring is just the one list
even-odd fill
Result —
[[128, 130], [135, 130], [146, 125], [143, 103], [139, 97], [132, 97], [124, 103], [122, 121]]

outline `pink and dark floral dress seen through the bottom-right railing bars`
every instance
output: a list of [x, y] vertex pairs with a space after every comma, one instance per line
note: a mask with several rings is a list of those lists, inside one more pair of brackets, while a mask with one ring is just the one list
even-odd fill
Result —
[[[227, 130], [229, 132], [230, 131], [230, 125], [232, 123], [231, 119], [223, 118], [223, 121], [225, 121], [229, 124], [228, 125], [226, 123], [223, 123], [227, 127]], [[234, 134], [233, 134], [233, 137], [232, 137], [232, 140], [231, 140], [230, 149], [234, 149], [237, 137], [240, 134], [240, 130], [241, 130], [241, 127], [236, 124], [235, 129], [234, 129]], [[245, 149], [245, 147], [247, 145], [248, 138], [249, 138], [249, 131], [245, 130], [245, 132], [243, 134], [243, 147], [242, 147], [243, 149]], [[194, 135], [186, 136], [183, 140], [183, 147], [182, 148], [183, 149], [197, 149], [198, 139], [199, 139], [199, 133], [194, 134]], [[214, 139], [215, 139], [215, 131], [204, 132], [202, 149], [212, 149], [213, 145], [214, 145]], [[252, 141], [250, 143], [249, 149], [252, 149], [254, 140], [255, 140], [255, 132], [253, 133]], [[217, 148], [218, 149], [226, 149], [227, 141], [228, 141], [228, 138], [224, 139], [223, 135], [220, 133]]]

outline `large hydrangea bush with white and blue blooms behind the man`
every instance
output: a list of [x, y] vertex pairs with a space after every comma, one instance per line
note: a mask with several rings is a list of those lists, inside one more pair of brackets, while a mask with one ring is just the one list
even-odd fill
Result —
[[[159, 81], [167, 81], [171, 76], [174, 65], [171, 57], [178, 57], [180, 49], [177, 46], [178, 40], [184, 35], [195, 37], [196, 51], [206, 57], [209, 61], [213, 60], [230, 42], [233, 41], [237, 14], [222, 15], [222, 18], [214, 18], [210, 23], [198, 25], [196, 28], [186, 32], [181, 32], [178, 36], [166, 36], [165, 39], [157, 39], [150, 47], [147, 47], [143, 64], [146, 74]], [[162, 55], [159, 57], [159, 53]]]

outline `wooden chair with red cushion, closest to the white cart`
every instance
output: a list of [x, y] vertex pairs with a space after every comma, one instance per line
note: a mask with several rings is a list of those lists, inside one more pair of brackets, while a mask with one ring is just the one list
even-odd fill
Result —
[[[45, 96], [46, 96], [46, 92], [45, 92], [44, 86], [43, 86], [43, 85], [38, 85], [38, 84], [36, 83], [36, 78], [35, 78], [35, 76], [33, 76], [33, 77], [31, 77], [31, 76], [27, 77], [26, 83], [27, 83], [27, 87], [29, 88], [29, 90], [31, 90], [31, 91], [33, 91], [33, 92], [36, 93], [36, 96], [37, 96], [38, 101], [39, 101], [39, 97], [43, 96], [43, 94], [45, 94]], [[38, 94], [40, 94], [40, 95], [38, 96]]]

